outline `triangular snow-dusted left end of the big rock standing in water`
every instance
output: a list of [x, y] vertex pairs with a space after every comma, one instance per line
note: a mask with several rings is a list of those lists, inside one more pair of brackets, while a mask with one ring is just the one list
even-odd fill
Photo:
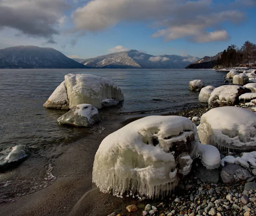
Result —
[[68, 109], [68, 99], [67, 99], [67, 88], [65, 86], [65, 81], [53, 91], [49, 99], [44, 103], [44, 107], [52, 109]]

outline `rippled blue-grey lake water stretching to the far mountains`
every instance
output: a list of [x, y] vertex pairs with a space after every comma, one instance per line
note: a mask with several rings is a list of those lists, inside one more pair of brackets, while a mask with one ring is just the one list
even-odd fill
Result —
[[53, 143], [72, 142], [84, 133], [83, 128], [57, 124], [65, 111], [43, 107], [68, 73], [110, 78], [122, 88], [123, 104], [100, 110], [102, 115], [175, 111], [197, 105], [198, 93], [189, 91], [189, 81], [201, 79], [206, 85], [219, 86], [226, 74], [211, 70], [0, 70], [0, 150], [17, 144], [47, 148]]

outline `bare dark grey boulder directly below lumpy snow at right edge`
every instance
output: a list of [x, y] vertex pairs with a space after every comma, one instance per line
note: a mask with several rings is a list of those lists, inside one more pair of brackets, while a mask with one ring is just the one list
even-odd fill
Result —
[[236, 184], [251, 177], [246, 169], [236, 164], [226, 165], [221, 170], [221, 180], [227, 184]]

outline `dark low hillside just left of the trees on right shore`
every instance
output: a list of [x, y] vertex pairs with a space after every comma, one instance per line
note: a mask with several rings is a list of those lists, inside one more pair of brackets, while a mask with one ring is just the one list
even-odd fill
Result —
[[222, 52], [219, 52], [217, 55], [209, 57], [205, 56], [195, 63], [191, 63], [186, 66], [186, 69], [211, 69], [213, 68], [218, 60], [218, 57], [221, 57]]

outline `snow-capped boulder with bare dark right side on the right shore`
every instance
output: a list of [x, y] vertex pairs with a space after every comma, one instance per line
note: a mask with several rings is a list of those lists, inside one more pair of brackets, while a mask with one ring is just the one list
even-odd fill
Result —
[[222, 85], [212, 91], [208, 105], [210, 107], [236, 105], [239, 104], [240, 95], [250, 92], [250, 89], [240, 85]]

